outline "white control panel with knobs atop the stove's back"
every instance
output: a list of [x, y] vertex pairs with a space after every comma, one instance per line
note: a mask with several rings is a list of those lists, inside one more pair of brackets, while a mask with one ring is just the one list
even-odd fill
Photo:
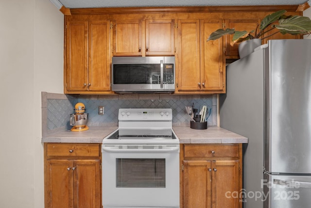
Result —
[[170, 108], [122, 108], [119, 109], [118, 119], [121, 121], [170, 121], [173, 115]]

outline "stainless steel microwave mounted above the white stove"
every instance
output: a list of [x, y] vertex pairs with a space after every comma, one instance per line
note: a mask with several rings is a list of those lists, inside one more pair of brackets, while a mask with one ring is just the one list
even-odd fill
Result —
[[175, 57], [112, 57], [112, 91], [173, 93]]

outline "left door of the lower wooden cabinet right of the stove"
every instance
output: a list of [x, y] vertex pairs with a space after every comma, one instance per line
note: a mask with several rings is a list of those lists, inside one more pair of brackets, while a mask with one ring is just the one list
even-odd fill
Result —
[[184, 161], [183, 164], [184, 164], [183, 207], [211, 208], [210, 161]]

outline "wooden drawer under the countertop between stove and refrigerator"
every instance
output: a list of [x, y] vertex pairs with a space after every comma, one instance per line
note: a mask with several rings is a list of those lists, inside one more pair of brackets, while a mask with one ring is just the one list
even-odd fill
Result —
[[185, 145], [185, 157], [239, 157], [239, 145]]

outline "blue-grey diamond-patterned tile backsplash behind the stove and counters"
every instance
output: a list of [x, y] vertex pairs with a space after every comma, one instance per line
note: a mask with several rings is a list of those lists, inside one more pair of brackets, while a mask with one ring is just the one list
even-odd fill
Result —
[[[44, 110], [46, 105], [47, 131], [70, 129], [69, 115], [74, 113], [77, 102], [86, 106], [86, 113], [89, 113], [88, 126], [117, 125], [120, 108], [172, 108], [173, 126], [190, 126], [185, 106], [192, 105], [197, 109], [203, 105], [208, 110], [212, 108], [207, 125], [217, 125], [217, 95], [62, 95], [43, 92], [42, 108]], [[104, 106], [104, 115], [98, 114], [99, 106]]]

